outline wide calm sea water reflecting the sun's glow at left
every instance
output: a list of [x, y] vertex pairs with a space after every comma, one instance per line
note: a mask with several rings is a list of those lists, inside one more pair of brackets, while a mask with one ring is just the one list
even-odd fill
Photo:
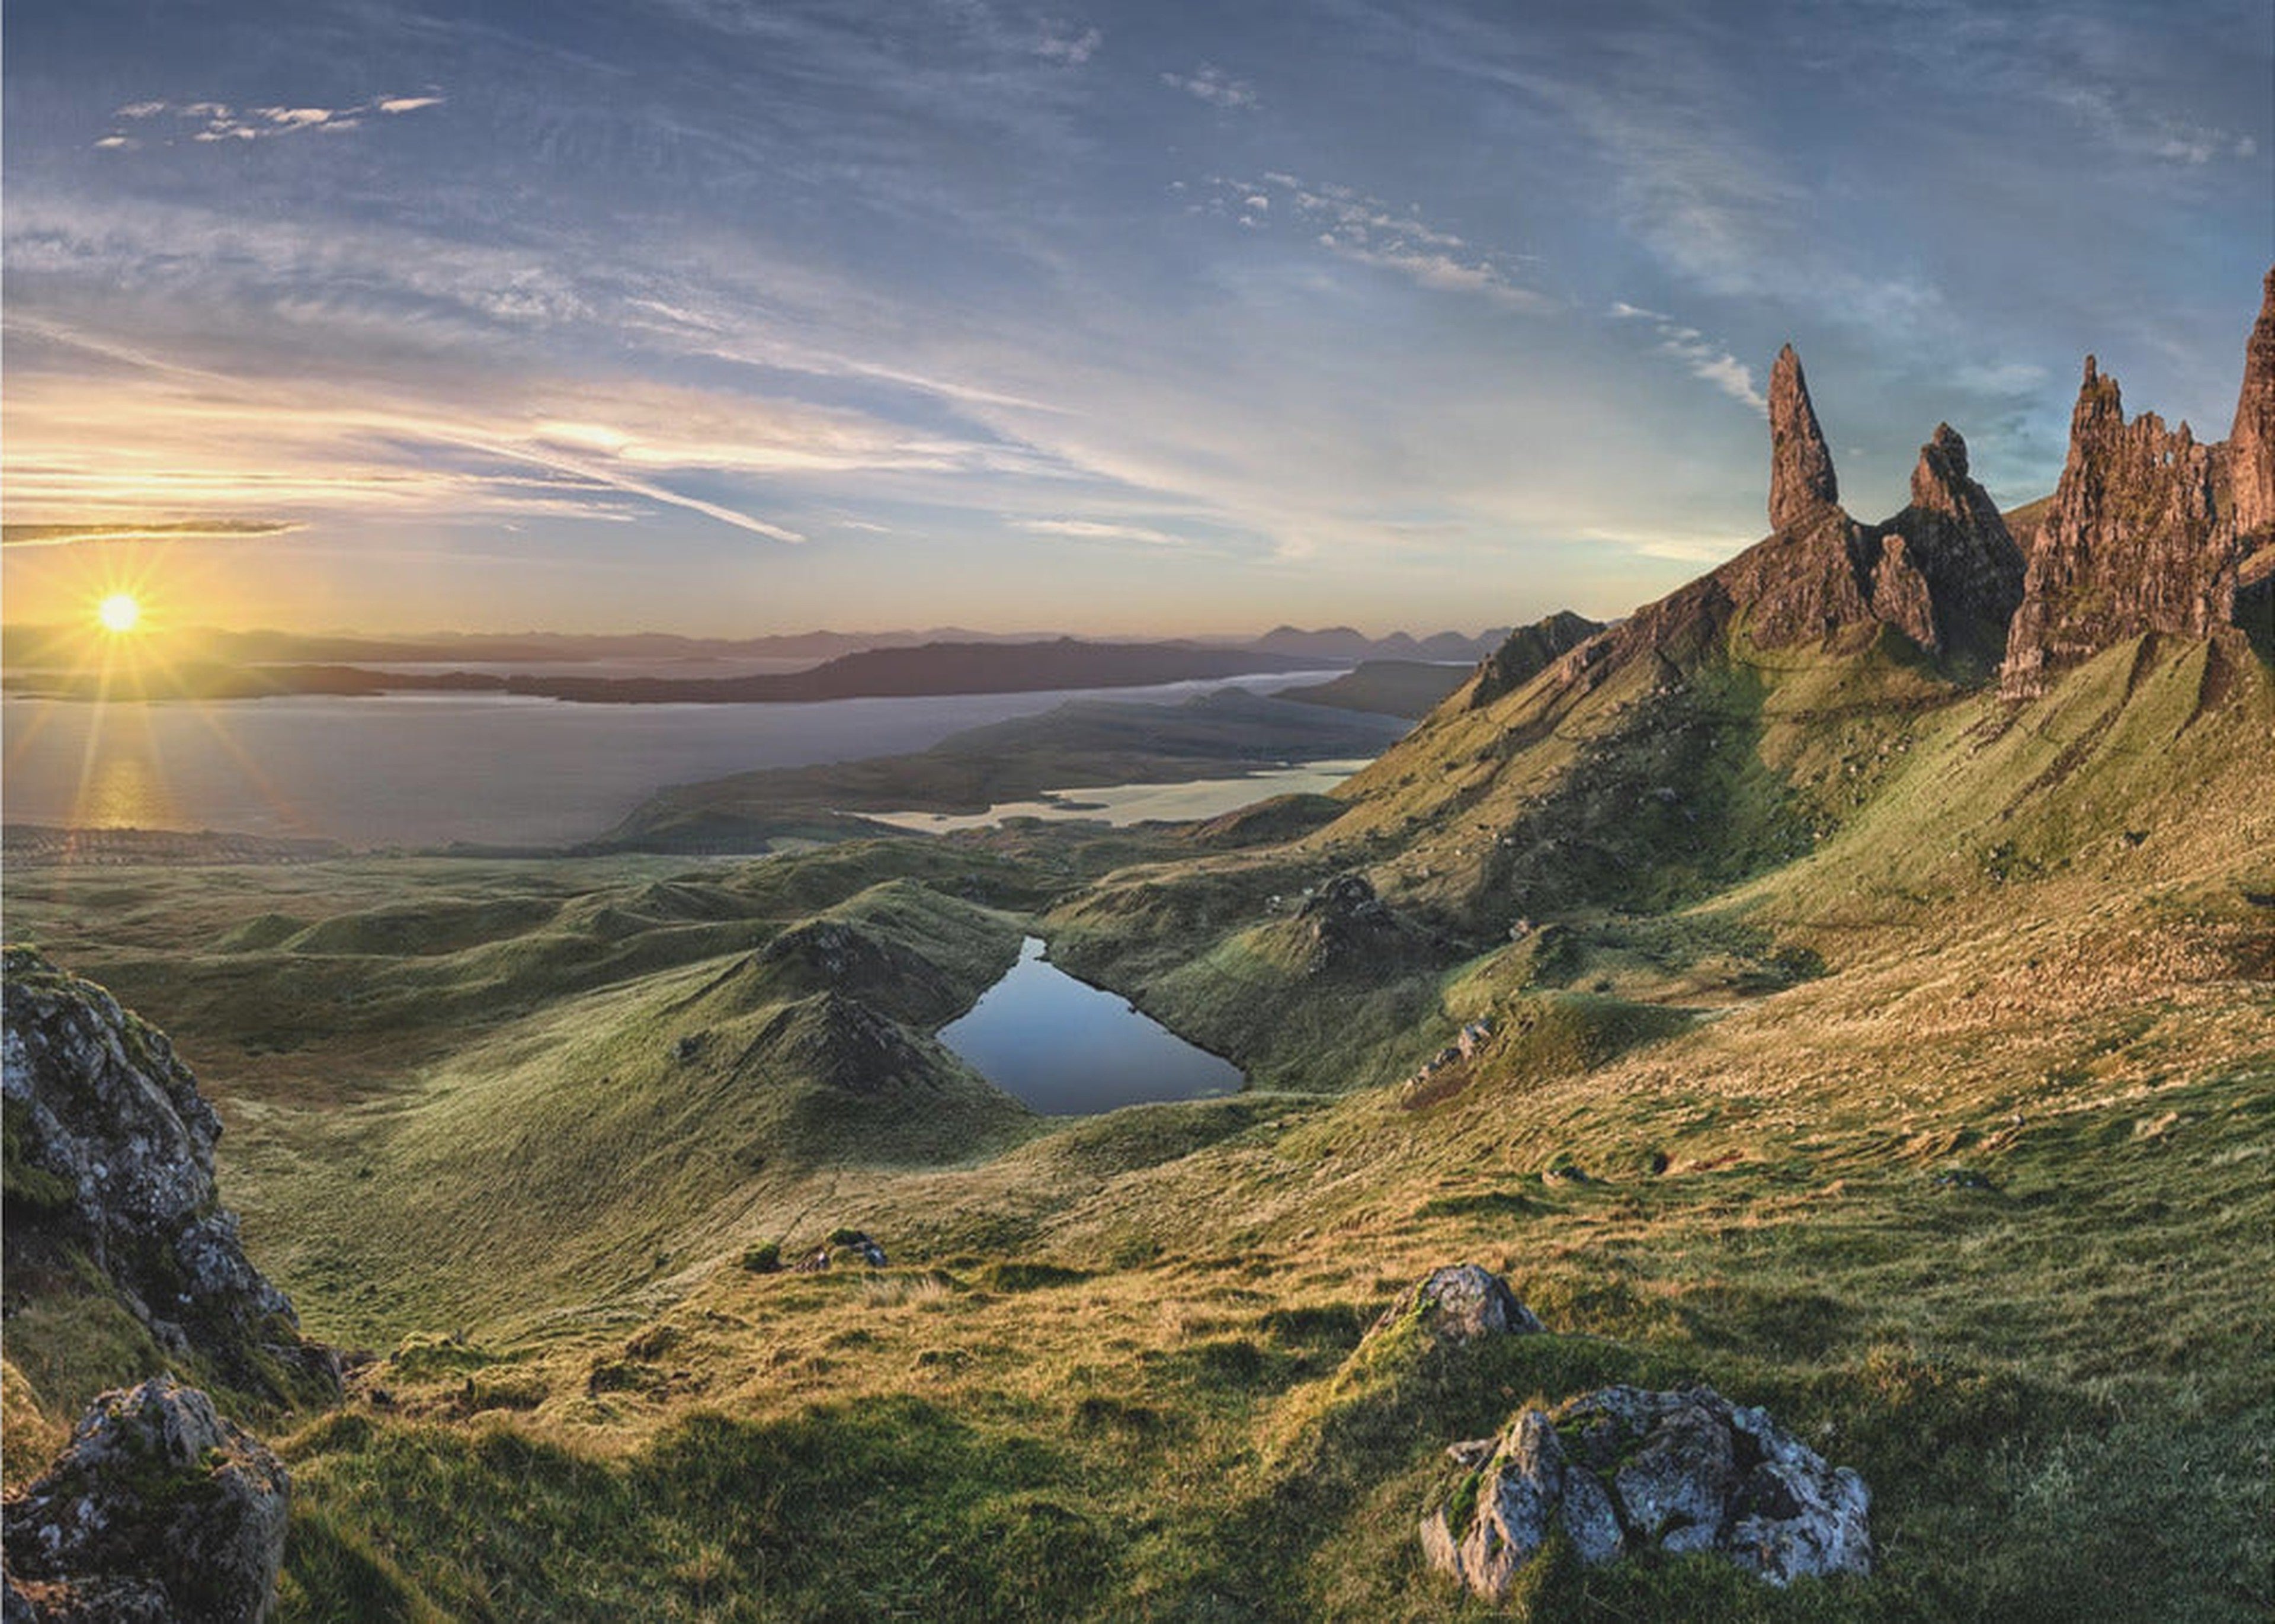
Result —
[[1176, 703], [1231, 682], [819, 705], [564, 705], [505, 694], [91, 705], [0, 701], [16, 823], [318, 835], [350, 846], [592, 839], [664, 785], [899, 755], [1069, 698]]

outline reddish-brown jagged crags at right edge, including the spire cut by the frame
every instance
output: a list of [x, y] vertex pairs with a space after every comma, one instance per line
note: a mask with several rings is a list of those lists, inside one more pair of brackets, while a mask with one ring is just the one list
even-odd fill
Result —
[[[2143, 632], [2255, 628], [2275, 528], [2275, 271], [2243, 357], [2234, 434], [2202, 446], [2154, 412], [2125, 421], [2118, 380], [2086, 357], [2070, 455], [2029, 548], [2000, 691], [2032, 698], [2061, 666]], [[2252, 569], [2245, 571], [2245, 564]]]

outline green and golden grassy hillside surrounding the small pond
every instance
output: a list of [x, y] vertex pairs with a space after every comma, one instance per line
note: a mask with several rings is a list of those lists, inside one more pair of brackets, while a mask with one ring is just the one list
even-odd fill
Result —
[[[11, 930], [173, 1028], [378, 1351], [287, 1440], [287, 1617], [1481, 1617], [1445, 1444], [1604, 1381], [1770, 1406], [1879, 1565], [1520, 1617], [2266, 1617], [2266, 664], [1709, 653], [1456, 694], [1331, 821], [59, 871]], [[1021, 930], [1256, 1087], [994, 1096], [930, 1030]], [[892, 1267], [746, 1267], [835, 1226]], [[1363, 1344], [1458, 1260], [1552, 1335]]]

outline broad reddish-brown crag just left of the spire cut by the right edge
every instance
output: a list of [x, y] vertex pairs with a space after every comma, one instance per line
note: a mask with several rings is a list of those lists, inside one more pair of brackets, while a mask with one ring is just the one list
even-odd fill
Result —
[[2234, 512], [2220, 464], [2182, 423], [2125, 421], [2118, 380], [2086, 357], [2070, 455], [2029, 550], [2000, 691], [2032, 698], [2052, 671], [2141, 632], [2204, 637], [2234, 619]]

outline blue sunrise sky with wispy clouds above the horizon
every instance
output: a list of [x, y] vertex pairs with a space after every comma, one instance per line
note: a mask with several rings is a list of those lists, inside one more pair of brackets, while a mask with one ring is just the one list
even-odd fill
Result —
[[9, 0], [0, 612], [1476, 630], [2223, 437], [2275, 7]]

